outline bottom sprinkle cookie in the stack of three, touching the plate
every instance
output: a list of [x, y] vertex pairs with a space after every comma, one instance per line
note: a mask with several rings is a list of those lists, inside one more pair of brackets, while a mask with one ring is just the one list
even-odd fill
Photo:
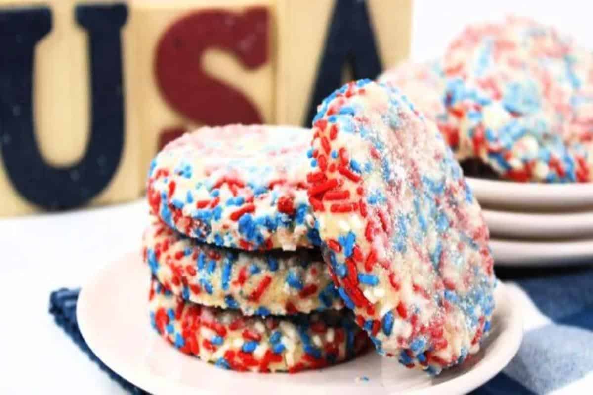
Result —
[[236, 371], [298, 372], [354, 358], [369, 344], [346, 310], [266, 318], [206, 307], [152, 280], [154, 329], [186, 354]]

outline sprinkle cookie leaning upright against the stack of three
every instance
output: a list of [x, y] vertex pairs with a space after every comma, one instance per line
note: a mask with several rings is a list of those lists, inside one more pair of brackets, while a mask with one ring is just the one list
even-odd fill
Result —
[[314, 118], [308, 194], [340, 296], [382, 355], [438, 373], [479, 350], [496, 280], [480, 206], [435, 124], [351, 82]]

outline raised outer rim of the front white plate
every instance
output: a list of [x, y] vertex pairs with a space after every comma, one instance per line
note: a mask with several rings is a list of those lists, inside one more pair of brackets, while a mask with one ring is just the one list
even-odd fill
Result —
[[[110, 274], [113, 272], [117, 273], [119, 270], [122, 270], [121, 268], [125, 267], [126, 261], [136, 261], [136, 263], [139, 263], [138, 261], [140, 261], [140, 259], [137, 253], [126, 253], [98, 269], [90, 278], [88, 278], [88, 281], [81, 288], [78, 303], [76, 305], [76, 316], [78, 319], [79, 330], [82, 337], [87, 342], [87, 345], [95, 355], [97, 355], [104, 364], [124, 377], [127, 381], [130, 381], [130, 383], [145, 390], [151, 391], [152, 393], [170, 393], [172, 389], [171, 383], [164, 377], [150, 375], [146, 370], [142, 369], [122, 367], [122, 365], [125, 364], [117, 363], [118, 359], [112, 351], [98, 346], [96, 339], [93, 338], [92, 335], [93, 330], [90, 330], [87, 327], [87, 325], [90, 325], [90, 323], [87, 323], [88, 314], [93, 311], [92, 303], [90, 302], [92, 298], [87, 295], [93, 292], [99, 292], [97, 288], [101, 288], [101, 283], [105, 281], [105, 278], [109, 278]], [[138, 266], [144, 267], [144, 265]], [[138, 269], [138, 271], [140, 271], [140, 269]], [[146, 274], [148, 274], [147, 269]], [[493, 349], [492, 346], [490, 346], [489, 348], [484, 349], [484, 352], [495, 353], [492, 358], [496, 361], [501, 361], [500, 364], [497, 364], [496, 368], [492, 368], [492, 364], [477, 364], [474, 365], [471, 370], [458, 374], [447, 381], [435, 384], [431, 387], [412, 389], [409, 393], [416, 395], [436, 395], [443, 393], [443, 391], [446, 393], [465, 393], [486, 383], [490, 378], [494, 377], [509, 364], [511, 359], [517, 354], [519, 346], [521, 345], [524, 332], [522, 317], [519, 307], [516, 306], [516, 304], [511, 303], [508, 287], [501, 281], [497, 281], [495, 298], [496, 306], [505, 308], [503, 314], [501, 314], [505, 317], [505, 320], [503, 320], [504, 327], [501, 329], [499, 337], [496, 338], [497, 343], [501, 346], [496, 349]], [[148, 329], [148, 323], [146, 324], [146, 328]], [[186, 357], [186, 355], [181, 353], [179, 353], [179, 355], [180, 357]], [[189, 387], [183, 383], [175, 383], [173, 389], [176, 391], [180, 390], [182, 393], [195, 393], [196, 391], [196, 388]], [[200, 392], [218, 395], [206, 388], [202, 388]], [[394, 393], [393, 391], [389, 392]]]

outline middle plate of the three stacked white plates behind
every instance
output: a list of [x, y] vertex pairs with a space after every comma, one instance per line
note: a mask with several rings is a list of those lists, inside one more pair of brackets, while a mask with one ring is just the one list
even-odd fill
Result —
[[593, 239], [593, 211], [514, 213], [482, 210], [490, 235], [500, 239]]

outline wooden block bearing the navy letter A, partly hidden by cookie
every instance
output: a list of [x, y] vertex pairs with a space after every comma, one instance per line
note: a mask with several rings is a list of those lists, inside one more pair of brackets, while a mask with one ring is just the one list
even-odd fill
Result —
[[412, 0], [278, 0], [276, 123], [311, 126], [317, 105], [410, 51]]

